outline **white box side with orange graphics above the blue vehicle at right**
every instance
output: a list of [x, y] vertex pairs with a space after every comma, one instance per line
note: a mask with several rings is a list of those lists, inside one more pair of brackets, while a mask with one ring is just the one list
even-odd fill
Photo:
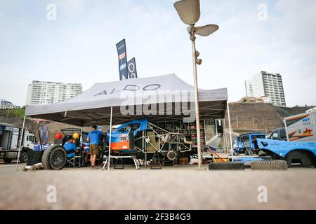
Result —
[[284, 118], [284, 127], [287, 141], [316, 141], [316, 107], [298, 114]]

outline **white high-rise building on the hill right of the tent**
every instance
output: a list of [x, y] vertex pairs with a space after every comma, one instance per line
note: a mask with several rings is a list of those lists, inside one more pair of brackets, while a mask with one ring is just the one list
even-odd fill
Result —
[[279, 73], [261, 71], [245, 81], [247, 97], [267, 97], [266, 102], [276, 106], [287, 106], [282, 77]]

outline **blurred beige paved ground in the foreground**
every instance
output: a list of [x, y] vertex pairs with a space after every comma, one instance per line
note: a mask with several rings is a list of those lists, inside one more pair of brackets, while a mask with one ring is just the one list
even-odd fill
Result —
[[[132, 167], [15, 172], [0, 165], [0, 209], [316, 209], [316, 169], [284, 172]], [[57, 202], [48, 202], [55, 186]], [[258, 187], [268, 202], [258, 202]], [[53, 198], [53, 197], [48, 197]], [[263, 198], [263, 197], [261, 197]]]

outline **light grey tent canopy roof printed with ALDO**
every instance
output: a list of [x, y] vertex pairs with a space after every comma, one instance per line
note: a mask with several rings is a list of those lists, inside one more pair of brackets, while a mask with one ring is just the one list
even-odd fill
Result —
[[[200, 118], [224, 118], [227, 100], [226, 88], [199, 90]], [[114, 124], [140, 118], [159, 122], [183, 120], [188, 110], [194, 111], [193, 102], [194, 87], [170, 74], [96, 83], [86, 92], [63, 102], [27, 106], [25, 115], [81, 127], [108, 125], [112, 107]], [[181, 113], [176, 113], [179, 106], [182, 106]], [[126, 114], [131, 109], [133, 112]]]

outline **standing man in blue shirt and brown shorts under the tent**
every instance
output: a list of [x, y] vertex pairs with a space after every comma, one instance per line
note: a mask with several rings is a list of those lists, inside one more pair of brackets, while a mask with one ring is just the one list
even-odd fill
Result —
[[100, 154], [99, 141], [102, 135], [103, 133], [97, 130], [96, 125], [91, 127], [91, 132], [88, 134], [87, 141], [90, 143], [89, 149], [91, 169], [95, 168], [96, 157]]

